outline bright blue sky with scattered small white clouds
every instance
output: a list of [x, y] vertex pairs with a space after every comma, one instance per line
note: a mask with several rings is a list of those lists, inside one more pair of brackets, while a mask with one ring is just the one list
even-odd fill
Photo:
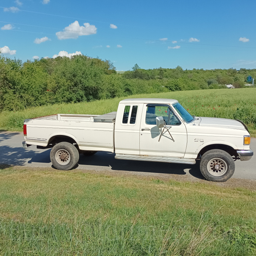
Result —
[[1, 0], [0, 6], [1, 51], [23, 61], [81, 52], [109, 59], [117, 70], [135, 63], [256, 68], [256, 1]]

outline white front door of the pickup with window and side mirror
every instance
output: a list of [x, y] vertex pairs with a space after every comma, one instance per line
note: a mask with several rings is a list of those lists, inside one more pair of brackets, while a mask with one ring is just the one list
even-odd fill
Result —
[[[156, 126], [157, 116], [163, 116], [174, 141], [166, 129], [158, 141], [163, 128]], [[140, 155], [184, 157], [186, 147], [186, 127], [171, 107], [166, 104], [144, 104], [140, 124]]]

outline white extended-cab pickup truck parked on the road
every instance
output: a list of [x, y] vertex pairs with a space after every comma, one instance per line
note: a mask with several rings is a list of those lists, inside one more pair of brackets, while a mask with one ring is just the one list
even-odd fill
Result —
[[[57, 114], [26, 119], [23, 147], [52, 148], [60, 170], [74, 168], [79, 154], [114, 153], [116, 159], [195, 164], [203, 176], [226, 181], [234, 160], [251, 159], [250, 133], [239, 120], [194, 117], [173, 99], [125, 99], [104, 115]], [[99, 159], [100, 161], [100, 159]]]

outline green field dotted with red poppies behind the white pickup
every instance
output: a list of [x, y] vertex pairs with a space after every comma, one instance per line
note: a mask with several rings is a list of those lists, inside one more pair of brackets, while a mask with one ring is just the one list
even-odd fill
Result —
[[[129, 98], [177, 99], [192, 115], [240, 119], [248, 125], [251, 135], [256, 136], [256, 88], [176, 91], [132, 95]], [[116, 111], [118, 102], [122, 99], [124, 98], [55, 104], [23, 111], [2, 112], [0, 113], [0, 129], [21, 131], [24, 119], [56, 113], [104, 114]]]

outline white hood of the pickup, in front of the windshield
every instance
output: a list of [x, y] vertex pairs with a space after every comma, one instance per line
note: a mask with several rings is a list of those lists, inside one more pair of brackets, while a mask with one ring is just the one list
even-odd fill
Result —
[[200, 117], [200, 118], [201, 118], [201, 122], [199, 123], [199, 126], [246, 130], [243, 124], [233, 119], [215, 118], [215, 117]]

